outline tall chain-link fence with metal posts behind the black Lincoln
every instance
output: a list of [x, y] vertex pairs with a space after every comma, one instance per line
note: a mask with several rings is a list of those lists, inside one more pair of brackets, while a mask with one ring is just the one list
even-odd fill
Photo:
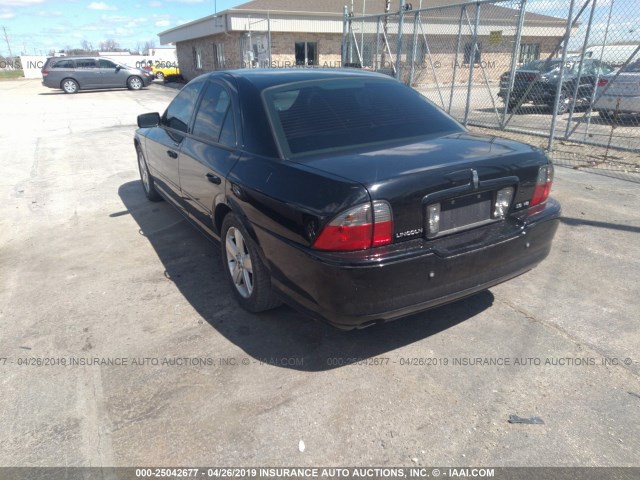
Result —
[[392, 75], [558, 164], [640, 181], [637, 0], [386, 3], [376, 15], [345, 9], [344, 66]]

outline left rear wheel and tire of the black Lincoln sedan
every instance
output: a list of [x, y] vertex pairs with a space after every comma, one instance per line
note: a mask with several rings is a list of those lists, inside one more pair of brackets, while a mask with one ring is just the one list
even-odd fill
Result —
[[271, 278], [258, 248], [240, 220], [229, 213], [220, 237], [222, 268], [238, 303], [251, 313], [281, 304], [271, 289]]

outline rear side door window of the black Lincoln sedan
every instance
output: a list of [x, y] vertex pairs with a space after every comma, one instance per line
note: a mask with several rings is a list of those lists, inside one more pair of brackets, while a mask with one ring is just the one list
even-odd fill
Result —
[[[233, 112], [231, 111], [231, 100], [229, 94], [221, 85], [211, 83], [207, 87], [207, 91], [202, 96], [200, 107], [196, 114], [196, 120], [193, 124], [193, 134], [212, 142], [226, 143], [227, 145], [235, 144], [235, 134], [232, 142], [222, 142], [220, 140], [220, 132], [223, 125], [227, 126], [225, 120], [231, 118], [233, 124]], [[227, 131], [226, 137], [229, 136]]]

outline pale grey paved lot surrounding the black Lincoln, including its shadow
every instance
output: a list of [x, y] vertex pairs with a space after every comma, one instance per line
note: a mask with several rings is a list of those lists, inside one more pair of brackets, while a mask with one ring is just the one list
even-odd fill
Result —
[[640, 465], [637, 183], [558, 167], [538, 268], [344, 333], [241, 310], [146, 201], [175, 94], [0, 83], [0, 466]]

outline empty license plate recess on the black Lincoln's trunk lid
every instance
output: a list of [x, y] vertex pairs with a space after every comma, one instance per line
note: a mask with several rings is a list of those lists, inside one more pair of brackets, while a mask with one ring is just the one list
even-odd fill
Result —
[[[493, 222], [493, 194], [492, 191], [474, 193], [427, 206], [427, 238], [449, 235]], [[432, 212], [434, 209], [439, 210], [437, 222], [434, 221], [434, 213], [431, 213], [430, 219], [430, 208]]]

